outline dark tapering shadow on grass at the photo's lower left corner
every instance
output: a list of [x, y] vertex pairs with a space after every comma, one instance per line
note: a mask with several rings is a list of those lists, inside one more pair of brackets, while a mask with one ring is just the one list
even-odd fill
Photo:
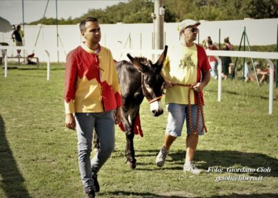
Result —
[[30, 197], [24, 187], [24, 178], [6, 138], [5, 123], [0, 115], [0, 188], [6, 197]]

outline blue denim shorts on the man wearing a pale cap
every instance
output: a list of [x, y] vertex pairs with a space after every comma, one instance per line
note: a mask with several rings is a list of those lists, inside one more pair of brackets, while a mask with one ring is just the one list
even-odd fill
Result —
[[[198, 105], [191, 105], [193, 132], [195, 132], [197, 126], [197, 111], [198, 111]], [[174, 137], [181, 136], [183, 123], [185, 120], [186, 120], [187, 133], [191, 134], [190, 125], [189, 125], [188, 105], [169, 103], [167, 105], [167, 112], [168, 112], [168, 118], [167, 118], [166, 132], [168, 135]], [[198, 125], [199, 126], [198, 126], [197, 135], [204, 135], [201, 112], [199, 112]]]

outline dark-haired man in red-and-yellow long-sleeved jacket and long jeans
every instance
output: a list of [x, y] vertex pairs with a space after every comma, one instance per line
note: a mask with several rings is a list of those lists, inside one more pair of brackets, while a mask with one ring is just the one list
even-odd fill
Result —
[[[88, 197], [95, 197], [97, 173], [114, 150], [115, 124], [122, 121], [122, 98], [111, 51], [99, 45], [97, 19], [88, 17], [79, 27], [85, 42], [67, 54], [65, 125], [76, 128], [81, 180]], [[100, 148], [90, 161], [94, 129]]]

